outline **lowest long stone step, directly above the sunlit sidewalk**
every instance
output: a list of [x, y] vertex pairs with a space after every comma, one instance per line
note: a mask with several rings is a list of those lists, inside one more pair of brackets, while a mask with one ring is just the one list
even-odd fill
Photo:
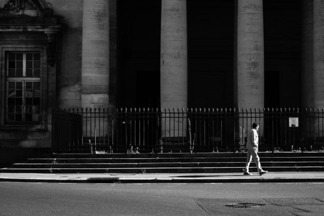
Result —
[[[324, 167], [263, 167], [269, 172], [323, 172]], [[257, 172], [251, 167], [250, 172]], [[2, 173], [242, 173], [242, 167], [200, 167], [200, 168], [61, 168], [61, 169], [0, 169]]]

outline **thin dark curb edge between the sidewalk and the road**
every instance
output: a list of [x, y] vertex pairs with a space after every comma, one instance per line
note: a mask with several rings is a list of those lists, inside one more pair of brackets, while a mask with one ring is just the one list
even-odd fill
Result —
[[0, 182], [29, 182], [29, 183], [295, 183], [295, 182], [324, 182], [324, 178], [254, 178], [254, 179], [202, 179], [202, 178], [87, 178], [87, 179], [26, 179], [0, 178]]

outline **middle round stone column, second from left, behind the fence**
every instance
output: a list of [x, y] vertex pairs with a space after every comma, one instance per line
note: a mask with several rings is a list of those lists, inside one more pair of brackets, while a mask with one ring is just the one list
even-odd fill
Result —
[[[187, 107], [186, 0], [162, 0], [161, 107]], [[168, 116], [168, 115], [167, 115]], [[177, 116], [177, 115], [176, 115]], [[162, 136], [186, 136], [186, 118], [162, 120]], [[182, 121], [183, 120], [183, 121]], [[166, 124], [165, 130], [164, 125]], [[184, 130], [181, 130], [182, 127]], [[179, 128], [179, 130], [178, 130]]]

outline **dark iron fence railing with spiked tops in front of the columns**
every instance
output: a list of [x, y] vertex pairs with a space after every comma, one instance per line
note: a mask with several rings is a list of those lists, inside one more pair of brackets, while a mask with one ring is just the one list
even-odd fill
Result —
[[254, 122], [259, 151], [324, 151], [324, 109], [52, 110], [56, 150], [240, 152]]

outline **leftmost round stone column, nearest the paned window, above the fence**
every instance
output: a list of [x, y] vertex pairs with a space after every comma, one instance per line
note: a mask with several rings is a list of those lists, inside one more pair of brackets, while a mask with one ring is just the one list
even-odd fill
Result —
[[109, 0], [84, 0], [82, 107], [109, 105]]

